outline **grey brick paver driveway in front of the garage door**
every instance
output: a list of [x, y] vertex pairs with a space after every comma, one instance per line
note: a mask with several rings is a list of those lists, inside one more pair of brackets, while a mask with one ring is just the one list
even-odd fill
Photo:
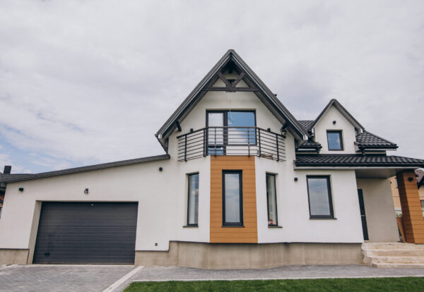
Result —
[[129, 265], [28, 265], [0, 268], [0, 291], [101, 292], [131, 272]]

